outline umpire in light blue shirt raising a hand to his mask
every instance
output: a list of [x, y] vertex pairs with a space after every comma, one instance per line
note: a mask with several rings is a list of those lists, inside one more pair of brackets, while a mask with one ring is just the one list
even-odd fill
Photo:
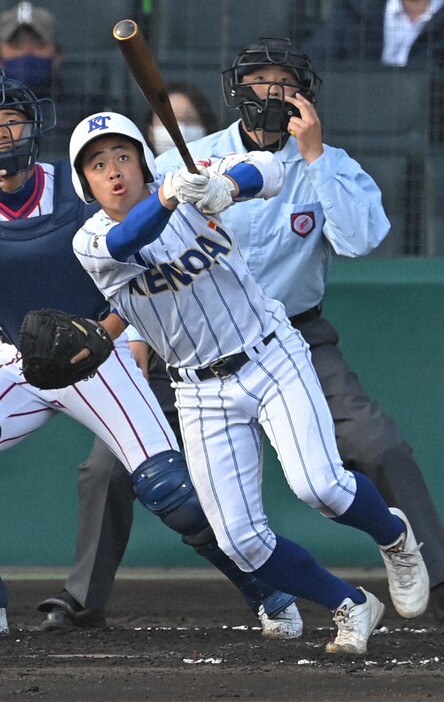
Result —
[[[300, 93], [296, 104], [276, 89], [289, 75]], [[284, 304], [309, 344], [345, 465], [375, 482], [386, 500], [411, 518], [424, 544], [436, 627], [444, 633], [444, 531], [438, 511], [412, 448], [394, 420], [367, 396], [322, 312], [333, 251], [367, 255], [387, 234], [378, 188], [345, 151], [323, 145], [315, 107], [320, 78], [309, 55], [290, 39], [260, 38], [222, 76], [226, 105], [240, 118], [190, 144], [191, 155], [198, 161], [260, 149], [285, 164], [282, 193], [268, 201], [238, 203], [222, 213], [222, 224], [236, 231], [253, 276], [267, 295]], [[181, 166], [177, 149], [156, 158], [159, 176]]]

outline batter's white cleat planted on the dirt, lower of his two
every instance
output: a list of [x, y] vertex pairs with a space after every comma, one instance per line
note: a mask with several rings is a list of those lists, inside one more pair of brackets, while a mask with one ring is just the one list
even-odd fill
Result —
[[334, 641], [325, 647], [327, 653], [367, 653], [367, 641], [384, 616], [385, 607], [371, 592], [362, 587], [366, 601], [356, 604], [349, 597], [339, 605], [333, 615], [338, 627]]

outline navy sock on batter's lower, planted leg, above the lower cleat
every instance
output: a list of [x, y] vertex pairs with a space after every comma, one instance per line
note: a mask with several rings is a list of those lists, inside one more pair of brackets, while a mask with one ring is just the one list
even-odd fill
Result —
[[276, 548], [255, 573], [277, 590], [317, 602], [331, 611], [346, 597], [356, 604], [365, 602], [360, 590], [322, 568], [305, 548], [278, 534]]

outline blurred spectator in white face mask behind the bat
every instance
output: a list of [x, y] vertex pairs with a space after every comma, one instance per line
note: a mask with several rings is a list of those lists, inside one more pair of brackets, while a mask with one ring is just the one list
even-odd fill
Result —
[[[219, 125], [216, 115], [197, 85], [186, 81], [171, 81], [167, 84], [167, 93], [186, 142], [196, 141], [217, 131]], [[152, 110], [146, 119], [146, 134], [156, 156], [174, 146], [167, 130]]]

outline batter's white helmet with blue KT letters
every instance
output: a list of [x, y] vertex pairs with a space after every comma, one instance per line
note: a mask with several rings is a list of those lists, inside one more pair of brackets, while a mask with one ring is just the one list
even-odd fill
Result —
[[154, 155], [143, 138], [142, 132], [128, 117], [117, 112], [96, 112], [83, 119], [74, 129], [69, 142], [69, 158], [71, 161], [71, 177], [74, 189], [83, 202], [94, 202], [94, 197], [88, 187], [81, 168], [82, 151], [93, 139], [110, 134], [121, 134], [136, 144], [140, 152], [143, 177], [145, 183], [152, 182], [156, 175]]

